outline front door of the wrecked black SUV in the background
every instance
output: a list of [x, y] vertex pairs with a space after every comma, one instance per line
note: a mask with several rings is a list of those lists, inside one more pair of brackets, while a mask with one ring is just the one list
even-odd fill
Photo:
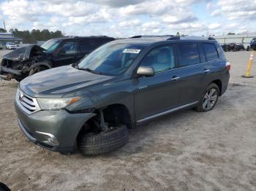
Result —
[[78, 41], [67, 40], [62, 42], [53, 52], [53, 65], [64, 66], [78, 61]]

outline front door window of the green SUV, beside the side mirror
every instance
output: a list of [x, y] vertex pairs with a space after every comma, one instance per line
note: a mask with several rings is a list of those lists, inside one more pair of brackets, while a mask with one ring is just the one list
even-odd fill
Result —
[[172, 46], [156, 47], [143, 59], [140, 66], [152, 67], [155, 72], [175, 68], [175, 58]]

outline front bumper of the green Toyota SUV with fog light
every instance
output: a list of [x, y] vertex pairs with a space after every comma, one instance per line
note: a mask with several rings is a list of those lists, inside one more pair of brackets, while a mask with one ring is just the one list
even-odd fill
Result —
[[94, 116], [94, 113], [70, 114], [64, 109], [26, 114], [16, 99], [15, 110], [23, 134], [34, 144], [56, 152], [72, 152], [80, 128]]

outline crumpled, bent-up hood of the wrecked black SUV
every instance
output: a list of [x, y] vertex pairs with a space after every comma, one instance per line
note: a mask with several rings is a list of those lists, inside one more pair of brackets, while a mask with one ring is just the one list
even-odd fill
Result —
[[10, 61], [25, 61], [29, 60], [31, 52], [37, 50], [37, 52], [43, 52], [45, 49], [39, 47], [38, 45], [29, 45], [27, 47], [20, 47], [12, 52], [3, 56], [4, 59]]

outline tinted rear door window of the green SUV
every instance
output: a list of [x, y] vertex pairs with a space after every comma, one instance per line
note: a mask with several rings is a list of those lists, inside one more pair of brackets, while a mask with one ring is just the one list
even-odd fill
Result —
[[179, 66], [192, 66], [200, 63], [197, 44], [178, 44]]

